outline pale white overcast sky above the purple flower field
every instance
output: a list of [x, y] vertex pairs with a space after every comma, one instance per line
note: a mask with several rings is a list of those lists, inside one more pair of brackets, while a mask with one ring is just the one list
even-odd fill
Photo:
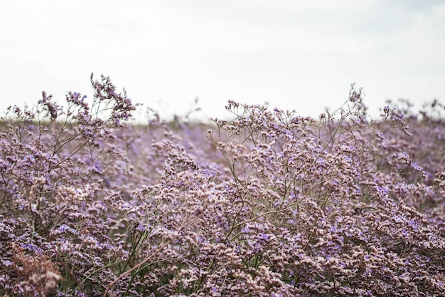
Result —
[[365, 91], [445, 103], [445, 1], [1, 0], [0, 108], [92, 94], [90, 73], [167, 115], [265, 103], [318, 116]]

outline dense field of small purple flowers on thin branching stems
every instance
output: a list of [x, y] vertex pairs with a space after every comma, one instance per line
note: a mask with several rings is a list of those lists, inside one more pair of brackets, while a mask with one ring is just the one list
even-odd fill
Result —
[[445, 296], [440, 103], [136, 125], [91, 82], [1, 120], [1, 296]]

